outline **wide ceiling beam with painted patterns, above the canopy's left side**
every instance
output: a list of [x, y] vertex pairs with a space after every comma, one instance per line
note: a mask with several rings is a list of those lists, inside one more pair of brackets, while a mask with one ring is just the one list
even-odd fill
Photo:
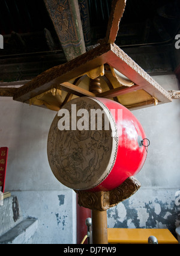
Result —
[[44, 0], [67, 60], [86, 52], [78, 0]]

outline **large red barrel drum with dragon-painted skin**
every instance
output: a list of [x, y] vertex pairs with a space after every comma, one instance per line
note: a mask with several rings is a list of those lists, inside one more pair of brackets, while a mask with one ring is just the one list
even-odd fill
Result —
[[76, 98], [50, 126], [47, 155], [56, 178], [75, 190], [109, 191], [136, 175], [148, 140], [136, 117], [118, 102]]

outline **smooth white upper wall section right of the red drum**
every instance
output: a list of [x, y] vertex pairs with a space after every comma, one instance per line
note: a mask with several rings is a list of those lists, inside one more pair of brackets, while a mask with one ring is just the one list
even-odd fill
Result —
[[[179, 90], [175, 75], [154, 76], [166, 90]], [[137, 178], [143, 188], [180, 188], [180, 100], [133, 111], [151, 145]]]

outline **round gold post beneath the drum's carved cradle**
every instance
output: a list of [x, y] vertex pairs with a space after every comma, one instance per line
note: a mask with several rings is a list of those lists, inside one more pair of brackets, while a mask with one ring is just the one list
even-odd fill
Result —
[[107, 244], [107, 211], [92, 210], [92, 243]]

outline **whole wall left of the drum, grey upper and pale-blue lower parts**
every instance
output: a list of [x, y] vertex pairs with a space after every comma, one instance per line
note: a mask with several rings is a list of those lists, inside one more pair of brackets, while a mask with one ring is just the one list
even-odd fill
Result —
[[0, 110], [0, 147], [9, 149], [5, 191], [17, 195], [23, 217], [38, 219], [32, 243], [76, 243], [75, 192], [56, 180], [47, 160], [56, 112], [3, 97]]

